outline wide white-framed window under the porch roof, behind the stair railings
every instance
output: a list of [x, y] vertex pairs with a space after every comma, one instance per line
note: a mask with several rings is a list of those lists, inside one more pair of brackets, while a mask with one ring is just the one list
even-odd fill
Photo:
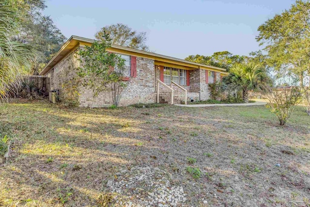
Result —
[[186, 70], [164, 67], [164, 83], [171, 84], [171, 80], [179, 85], [186, 85]]

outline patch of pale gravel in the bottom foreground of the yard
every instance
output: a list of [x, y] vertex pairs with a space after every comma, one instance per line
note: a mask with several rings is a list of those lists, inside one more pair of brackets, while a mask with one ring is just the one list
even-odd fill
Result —
[[124, 202], [120, 196], [115, 196], [115, 203], [121, 206], [176, 207], [184, 206], [187, 200], [183, 187], [171, 184], [172, 175], [159, 168], [131, 168], [116, 173], [116, 177], [117, 181], [108, 181], [109, 191], [135, 198]]

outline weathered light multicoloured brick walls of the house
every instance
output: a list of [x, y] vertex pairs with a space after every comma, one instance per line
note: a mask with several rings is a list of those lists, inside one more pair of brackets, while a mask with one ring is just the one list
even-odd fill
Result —
[[[63, 58], [54, 67], [54, 75], [51, 77], [52, 70], [50, 70], [45, 77], [50, 78], [50, 89], [59, 90], [60, 98], [64, 99], [67, 95], [64, 93], [63, 83], [70, 83], [70, 80], [77, 78], [77, 68], [80, 66], [78, 61], [76, 48], [69, 55]], [[187, 70], [190, 74], [189, 86], [182, 86], [187, 90], [187, 101], [193, 100], [207, 100], [209, 99], [208, 84], [205, 83], [205, 70], [195, 69]], [[220, 73], [216, 73], [217, 81], [220, 80]], [[146, 58], [137, 57], [137, 77], [131, 78], [129, 85], [123, 92], [120, 101], [120, 106], [128, 106], [135, 103], [155, 103], [157, 84], [156, 80], [160, 80], [160, 70], [157, 69], [155, 61]], [[69, 84], [69, 85], [70, 85]], [[74, 84], [74, 81], [72, 81]], [[161, 100], [171, 103], [170, 91], [164, 86], [159, 86]], [[175, 85], [172, 85], [174, 90], [174, 104], [184, 102], [185, 92]], [[78, 87], [79, 106], [90, 107], [92, 104], [92, 90], [80, 85]], [[101, 92], [93, 103], [93, 107], [108, 107], [112, 105], [111, 91], [107, 90]]]

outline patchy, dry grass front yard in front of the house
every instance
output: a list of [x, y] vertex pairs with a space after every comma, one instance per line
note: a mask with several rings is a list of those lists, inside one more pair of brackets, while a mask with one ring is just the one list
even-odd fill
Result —
[[[310, 117], [264, 106], [0, 106], [0, 206], [309, 207]], [[151, 203], [152, 202], [152, 203]]]

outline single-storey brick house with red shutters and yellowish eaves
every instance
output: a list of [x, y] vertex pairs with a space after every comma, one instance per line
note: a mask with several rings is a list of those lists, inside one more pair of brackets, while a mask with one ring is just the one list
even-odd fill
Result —
[[[80, 66], [76, 51], [94, 42], [78, 36], [71, 36], [58, 53], [49, 61], [39, 75], [44, 77], [44, 88], [59, 90], [65, 97], [63, 83], [77, 77]], [[120, 54], [128, 69], [124, 81], [129, 81], [120, 101], [121, 106], [135, 103], [180, 104], [192, 100], [207, 100], [210, 93], [208, 84], [220, 81], [226, 69], [210, 65], [192, 63], [153, 52], [112, 45], [109, 52]], [[78, 86], [79, 106], [89, 107], [92, 90]], [[93, 107], [112, 105], [110, 91], [102, 92]]]

